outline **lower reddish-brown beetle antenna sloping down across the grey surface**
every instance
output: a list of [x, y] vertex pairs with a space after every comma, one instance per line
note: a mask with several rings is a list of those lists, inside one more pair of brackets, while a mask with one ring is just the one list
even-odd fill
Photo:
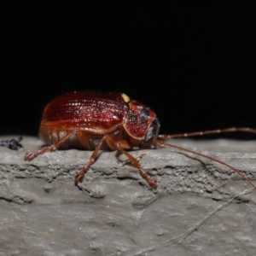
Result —
[[195, 151], [193, 151], [193, 150], [189, 150], [189, 149], [187, 149], [187, 148], [182, 148], [182, 147], [179, 147], [179, 146], [176, 146], [176, 145], [173, 145], [173, 144], [165, 143], [165, 142], [163, 142], [163, 141], [161, 141], [161, 140], [156, 140], [155, 142], [158, 143], [158, 144], [160, 144], [160, 145], [169, 146], [169, 147], [172, 147], [172, 148], [177, 148], [177, 149], [179, 149], [179, 150], [183, 150], [183, 151], [189, 152], [189, 153], [191, 153], [191, 154], [200, 155], [200, 156], [205, 157], [205, 158], [207, 158], [207, 159], [209, 159], [209, 160], [215, 161], [215, 162], [217, 162], [217, 163], [219, 163], [219, 164], [221, 164], [221, 165], [223, 165], [223, 166], [227, 166], [227, 167], [229, 167], [231, 170], [233, 170], [234, 172], [236, 172], [239, 176], [241, 176], [248, 184], [250, 184], [250, 185], [253, 187], [253, 189], [256, 190], [256, 186], [255, 186], [246, 176], [244, 176], [241, 172], [239, 172], [235, 167], [230, 166], [230, 165], [224, 163], [224, 162], [221, 161], [221, 160], [217, 160], [217, 159], [215, 159], [215, 158], [212, 158], [211, 156], [208, 156], [207, 154], [201, 154], [201, 153], [195, 152]]

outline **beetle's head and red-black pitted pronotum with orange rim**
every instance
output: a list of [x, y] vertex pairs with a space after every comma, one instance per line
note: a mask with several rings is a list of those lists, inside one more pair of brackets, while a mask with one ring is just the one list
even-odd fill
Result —
[[140, 148], [148, 148], [158, 137], [160, 123], [154, 111], [139, 102], [131, 101], [124, 127], [139, 142]]

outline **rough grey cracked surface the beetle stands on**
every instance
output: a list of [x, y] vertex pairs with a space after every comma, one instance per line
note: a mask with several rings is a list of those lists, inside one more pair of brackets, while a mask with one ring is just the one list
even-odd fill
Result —
[[[0, 137], [0, 140], [17, 136]], [[256, 192], [229, 168], [173, 148], [143, 154], [158, 179], [149, 189], [125, 156], [63, 150], [23, 160], [42, 146], [0, 148], [0, 255], [254, 255]], [[256, 142], [173, 140], [235, 166], [256, 184]]]

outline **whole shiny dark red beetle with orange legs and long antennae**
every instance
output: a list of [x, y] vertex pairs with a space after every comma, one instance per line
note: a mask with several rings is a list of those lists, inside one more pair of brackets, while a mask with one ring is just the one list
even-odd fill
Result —
[[154, 148], [169, 146], [227, 166], [240, 175], [254, 189], [256, 186], [241, 172], [223, 161], [170, 143], [174, 137], [194, 137], [213, 133], [246, 131], [251, 128], [229, 128], [214, 131], [200, 131], [176, 135], [159, 135], [160, 122], [156, 114], [142, 103], [131, 100], [119, 92], [73, 91], [57, 96], [44, 108], [39, 127], [40, 139], [51, 146], [38, 151], [27, 152], [25, 160], [33, 160], [39, 154], [55, 151], [57, 148], [84, 148], [94, 150], [90, 160], [76, 174], [74, 183], [82, 183], [85, 173], [95, 162], [100, 149], [119, 150], [131, 160], [151, 188], [157, 188], [157, 180], [143, 169], [139, 161], [126, 150], [132, 148]]

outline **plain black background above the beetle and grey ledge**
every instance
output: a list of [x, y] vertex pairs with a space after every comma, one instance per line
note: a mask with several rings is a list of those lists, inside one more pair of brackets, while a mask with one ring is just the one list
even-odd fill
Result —
[[2, 135], [37, 135], [46, 103], [72, 90], [125, 92], [157, 113], [161, 133], [256, 127], [253, 1], [3, 10]]

